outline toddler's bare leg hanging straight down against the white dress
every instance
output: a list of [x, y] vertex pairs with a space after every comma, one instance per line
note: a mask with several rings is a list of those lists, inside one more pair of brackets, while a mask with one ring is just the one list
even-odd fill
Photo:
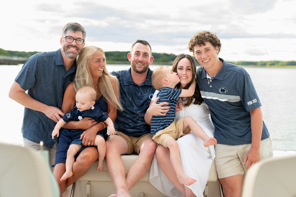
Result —
[[177, 178], [181, 184], [184, 185], [192, 185], [196, 182], [196, 179], [193, 179], [186, 174], [184, 174], [184, 171], [181, 167], [181, 161], [179, 156], [179, 145], [176, 140], [173, 138], [168, 140], [166, 143], [166, 146], [168, 149], [170, 149], [170, 162], [177, 174]]

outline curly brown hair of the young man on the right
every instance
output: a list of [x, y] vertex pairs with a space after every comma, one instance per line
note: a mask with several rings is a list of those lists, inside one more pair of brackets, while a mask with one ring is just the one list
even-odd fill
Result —
[[210, 31], [201, 31], [196, 33], [192, 39], [190, 39], [188, 44], [188, 49], [190, 52], [193, 52], [194, 55], [194, 47], [198, 44], [198, 46], [205, 45], [205, 42], [210, 42], [214, 48], [218, 46], [219, 52], [221, 51], [221, 42], [218, 37], [210, 32]]

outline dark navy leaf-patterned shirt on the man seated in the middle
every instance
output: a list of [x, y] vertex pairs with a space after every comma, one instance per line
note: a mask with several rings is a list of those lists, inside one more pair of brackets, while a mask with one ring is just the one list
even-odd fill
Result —
[[155, 92], [151, 82], [152, 71], [148, 68], [146, 80], [140, 85], [131, 79], [131, 68], [111, 74], [119, 81], [120, 102], [124, 109], [117, 110], [115, 129], [134, 137], [150, 133], [150, 126], [146, 124], [144, 116]]

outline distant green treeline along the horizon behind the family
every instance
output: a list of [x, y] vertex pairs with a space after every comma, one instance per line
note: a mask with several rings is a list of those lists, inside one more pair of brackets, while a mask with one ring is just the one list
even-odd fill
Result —
[[[129, 51], [106, 51], [106, 60], [107, 63], [111, 64], [129, 64], [127, 54]], [[7, 57], [25, 57], [29, 58], [32, 55], [38, 53], [37, 51], [34, 52], [24, 52], [24, 51], [7, 51], [0, 48], [0, 56], [7, 56]], [[164, 64], [164, 65], [172, 65], [173, 61], [177, 57], [174, 54], [168, 53], [152, 53], [154, 57], [154, 64]], [[195, 60], [196, 64], [197, 61]], [[259, 61], [259, 62], [251, 62], [251, 61], [237, 61], [237, 62], [229, 62], [235, 65], [240, 66], [296, 66], [296, 61]]]

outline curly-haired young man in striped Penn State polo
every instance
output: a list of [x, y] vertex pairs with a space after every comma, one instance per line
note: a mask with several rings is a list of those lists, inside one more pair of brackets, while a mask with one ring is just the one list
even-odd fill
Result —
[[261, 102], [247, 71], [218, 58], [221, 43], [215, 34], [196, 33], [188, 48], [202, 65], [197, 83], [215, 126], [215, 164], [223, 192], [238, 197], [246, 169], [273, 156]]

